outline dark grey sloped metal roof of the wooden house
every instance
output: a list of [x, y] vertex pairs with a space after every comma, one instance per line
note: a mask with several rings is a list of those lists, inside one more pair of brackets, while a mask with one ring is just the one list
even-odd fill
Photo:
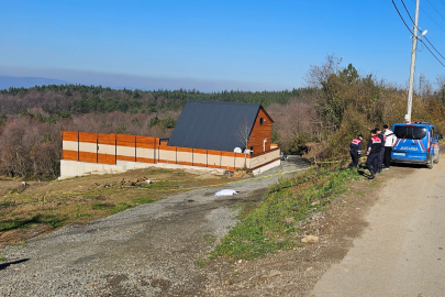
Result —
[[235, 147], [244, 150], [236, 131], [247, 125], [252, 132], [260, 107], [257, 103], [187, 100], [168, 145], [226, 152], [233, 152]]

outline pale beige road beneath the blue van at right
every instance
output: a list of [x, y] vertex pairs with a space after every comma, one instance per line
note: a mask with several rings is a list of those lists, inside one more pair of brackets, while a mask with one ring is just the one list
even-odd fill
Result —
[[390, 170], [397, 176], [386, 183], [365, 232], [311, 296], [444, 296], [445, 162]]

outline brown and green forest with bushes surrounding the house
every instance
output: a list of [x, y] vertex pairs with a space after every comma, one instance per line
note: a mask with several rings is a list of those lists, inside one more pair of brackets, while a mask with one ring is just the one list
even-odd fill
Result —
[[[188, 99], [255, 102], [275, 120], [272, 142], [287, 154], [347, 155], [351, 140], [383, 123], [403, 122], [407, 88], [336, 70], [336, 57], [311, 66], [303, 88], [283, 91], [200, 92], [115, 90], [101, 86], [49, 85], [0, 90], [0, 174], [57, 177], [60, 130], [168, 138]], [[414, 121], [445, 132], [445, 77], [425, 84], [413, 98]]]

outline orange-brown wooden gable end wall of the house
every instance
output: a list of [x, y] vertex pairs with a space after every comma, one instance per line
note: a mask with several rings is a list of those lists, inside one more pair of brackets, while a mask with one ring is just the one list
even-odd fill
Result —
[[[263, 119], [263, 125], [260, 121]], [[248, 140], [248, 145], [246, 148], [254, 148], [253, 155], [264, 152], [264, 140], [266, 141], [266, 152], [270, 150], [271, 142], [271, 125], [272, 121], [264, 111], [263, 108], [259, 109], [258, 116], [256, 117], [254, 129], [252, 130], [251, 138]]]

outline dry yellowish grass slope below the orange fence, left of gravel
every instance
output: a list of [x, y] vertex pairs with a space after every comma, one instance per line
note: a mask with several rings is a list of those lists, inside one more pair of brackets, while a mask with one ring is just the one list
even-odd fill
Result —
[[[155, 183], [126, 183], [146, 177]], [[136, 169], [115, 175], [91, 175], [64, 180], [33, 180], [20, 193], [24, 179], [0, 179], [0, 246], [25, 240], [27, 229], [46, 226], [55, 229], [68, 223], [84, 223], [136, 206], [155, 202], [168, 195], [192, 187], [225, 182], [174, 169]], [[169, 182], [174, 180], [174, 182]], [[47, 230], [47, 229], [45, 229]], [[2, 233], [8, 235], [2, 237]], [[11, 234], [11, 232], [13, 234]]]

